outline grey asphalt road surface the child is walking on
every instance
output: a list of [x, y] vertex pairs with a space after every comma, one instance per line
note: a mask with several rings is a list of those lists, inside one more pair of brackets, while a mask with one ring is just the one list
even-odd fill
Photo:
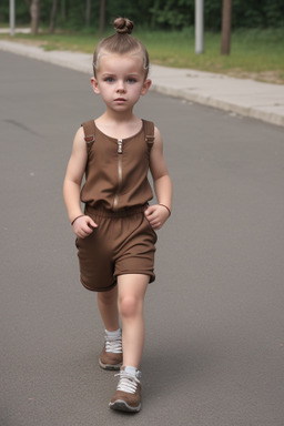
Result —
[[0, 52], [1, 426], [284, 425], [284, 133], [153, 92], [174, 207], [145, 302], [143, 408], [109, 409], [62, 181], [88, 75]]

